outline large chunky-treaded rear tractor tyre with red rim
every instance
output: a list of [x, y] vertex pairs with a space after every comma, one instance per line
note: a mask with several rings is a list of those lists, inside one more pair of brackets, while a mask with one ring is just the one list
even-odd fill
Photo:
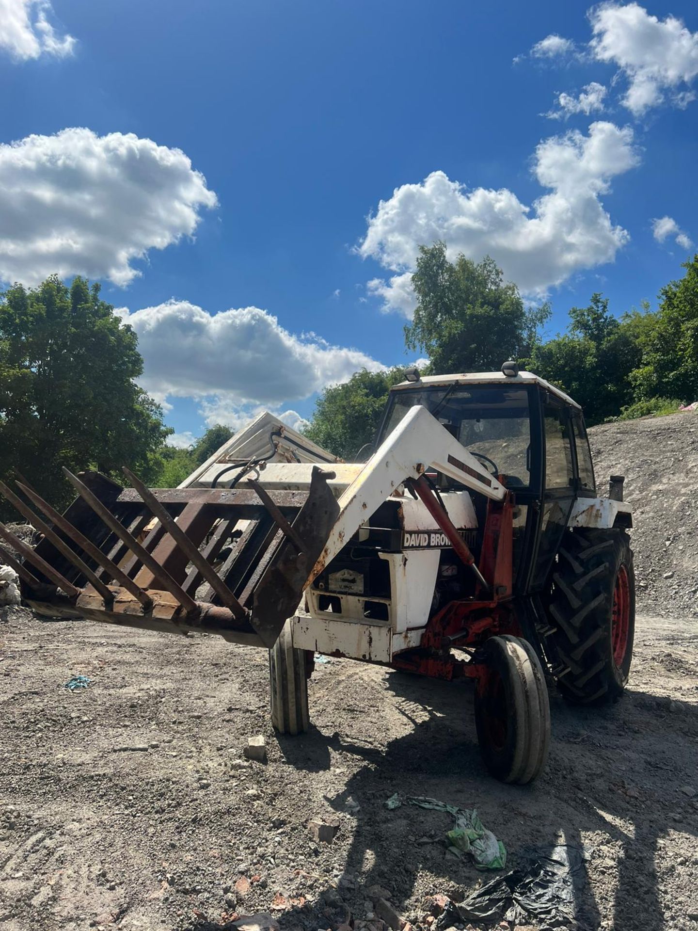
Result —
[[635, 573], [623, 530], [565, 533], [547, 600], [544, 634], [557, 687], [576, 705], [615, 701], [628, 679], [635, 637]]

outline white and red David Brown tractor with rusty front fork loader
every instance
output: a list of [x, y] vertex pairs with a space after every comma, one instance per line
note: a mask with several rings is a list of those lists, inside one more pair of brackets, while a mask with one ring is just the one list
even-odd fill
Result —
[[[635, 581], [623, 481], [597, 496], [578, 404], [530, 372], [436, 375], [390, 392], [368, 462], [262, 414], [178, 489], [67, 473], [58, 514], [0, 490], [42, 534], [3, 551], [53, 616], [205, 630], [269, 650], [272, 718], [308, 728], [315, 654], [475, 680], [490, 773], [544, 767], [547, 677], [570, 702], [624, 689]], [[457, 651], [454, 652], [454, 651]]]

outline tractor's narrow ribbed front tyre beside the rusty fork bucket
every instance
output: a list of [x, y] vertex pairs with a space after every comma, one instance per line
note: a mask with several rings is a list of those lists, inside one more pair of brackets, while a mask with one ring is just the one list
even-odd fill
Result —
[[272, 723], [279, 734], [304, 734], [310, 727], [307, 659], [293, 647], [291, 622], [284, 625], [269, 651]]

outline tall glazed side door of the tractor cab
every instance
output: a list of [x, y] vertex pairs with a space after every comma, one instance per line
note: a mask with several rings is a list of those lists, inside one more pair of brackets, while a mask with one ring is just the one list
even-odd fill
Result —
[[530, 590], [540, 591], [555, 560], [576, 497], [570, 408], [555, 395], [541, 397], [543, 499], [534, 546]]

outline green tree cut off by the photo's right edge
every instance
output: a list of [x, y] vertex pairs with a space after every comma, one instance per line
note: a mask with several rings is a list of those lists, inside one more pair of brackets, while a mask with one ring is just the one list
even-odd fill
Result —
[[635, 399], [698, 398], [698, 255], [659, 294], [656, 314], [635, 320], [641, 358], [630, 379]]

